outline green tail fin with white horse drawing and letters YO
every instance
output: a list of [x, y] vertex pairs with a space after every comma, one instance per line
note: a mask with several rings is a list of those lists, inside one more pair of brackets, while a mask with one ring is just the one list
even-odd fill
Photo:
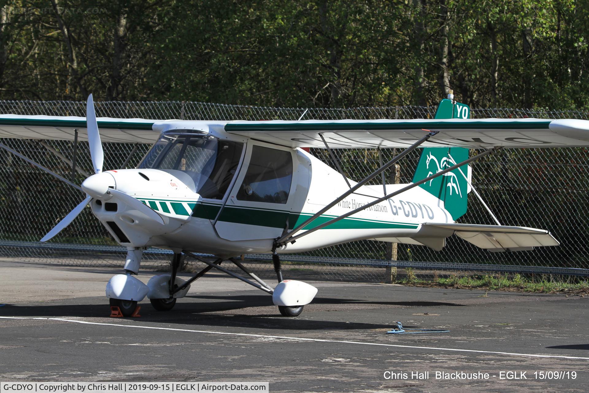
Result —
[[[435, 118], [469, 118], [469, 115], [468, 105], [452, 103], [452, 100], [444, 99], [438, 105]], [[425, 147], [419, 157], [419, 163], [413, 175], [413, 183], [466, 159], [468, 159], [468, 148], [465, 147]], [[454, 220], [466, 213], [466, 194], [469, 193], [470, 187], [462, 173], [469, 177], [469, 169], [468, 166], [455, 169], [420, 186], [439, 200], [444, 201], [445, 209]]]

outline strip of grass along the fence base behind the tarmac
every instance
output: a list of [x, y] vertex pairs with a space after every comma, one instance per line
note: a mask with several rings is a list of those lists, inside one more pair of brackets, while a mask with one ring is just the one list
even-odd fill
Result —
[[[568, 281], [568, 282], [567, 282]], [[442, 286], [444, 288], [465, 288], [484, 290], [517, 290], [520, 292], [534, 293], [589, 293], [589, 282], [577, 278], [569, 280], [553, 280], [546, 275], [531, 276], [530, 278], [516, 274], [514, 276], [485, 275], [485, 276], [458, 276], [448, 278], [434, 277], [432, 280], [424, 280], [408, 273], [407, 278], [398, 280], [398, 283], [413, 286]]]

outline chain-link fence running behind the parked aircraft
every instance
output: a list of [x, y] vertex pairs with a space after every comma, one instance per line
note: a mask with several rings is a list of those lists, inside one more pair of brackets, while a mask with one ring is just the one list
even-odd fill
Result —
[[[101, 102], [98, 116], [187, 120], [296, 120], [428, 118], [436, 107], [386, 108], [267, 108], [192, 102]], [[71, 101], [0, 101], [0, 113], [22, 115], [85, 115], [85, 103]], [[587, 118], [579, 111], [472, 109], [473, 117]], [[87, 143], [78, 143], [77, 171], [72, 173], [74, 144], [54, 140], [1, 140], [61, 176], [80, 184], [91, 173]], [[105, 143], [106, 169], [127, 162], [133, 167], [148, 150], [143, 144]], [[333, 166], [323, 149], [315, 156]], [[377, 150], [334, 150], [348, 177], [359, 180], [379, 167]], [[386, 162], [395, 149], [381, 151]], [[474, 152], [471, 152], [471, 155]], [[388, 183], [411, 181], [419, 151], [385, 172]], [[441, 252], [425, 246], [361, 241], [326, 247], [302, 255], [284, 256], [286, 270], [297, 276], [342, 280], [386, 281], [385, 266], [429, 270], [488, 270], [589, 275], [589, 153], [587, 148], [526, 148], [502, 150], [472, 165], [477, 188], [501, 224], [550, 230], [560, 240], [557, 247], [526, 252], [491, 253], [450, 237]], [[395, 176], [396, 175], [396, 176]], [[379, 184], [380, 177], [372, 184]], [[33, 262], [51, 261], [71, 265], [121, 266], [124, 248], [117, 246], [89, 209], [48, 244], [45, 235], [84, 196], [55, 177], [0, 149], [0, 256]], [[469, 209], [461, 223], [492, 224], [491, 216], [469, 194]], [[395, 257], [396, 262], [391, 262]], [[170, 255], [150, 250], [145, 263], [163, 265]], [[251, 256], [249, 265], [262, 275], [270, 274], [269, 256]], [[255, 260], [256, 262], [252, 262]], [[144, 265], [145, 266], [145, 265]]]

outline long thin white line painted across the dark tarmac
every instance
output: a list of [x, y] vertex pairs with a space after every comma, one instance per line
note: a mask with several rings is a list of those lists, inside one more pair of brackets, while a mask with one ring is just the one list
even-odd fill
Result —
[[480, 351], [478, 349], [440, 348], [437, 346], [379, 344], [378, 342], [329, 340], [329, 339], [320, 339], [320, 338], [304, 338], [304, 337], [292, 337], [292, 336], [273, 336], [273, 335], [267, 335], [267, 334], [253, 334], [253, 333], [214, 332], [214, 331], [207, 331], [207, 330], [161, 328], [159, 326], [121, 325], [120, 323], [88, 322], [88, 321], [79, 321], [79, 320], [75, 320], [75, 319], [65, 319], [65, 318], [41, 318], [41, 317], [31, 317], [31, 316], [0, 316], [0, 319], [39, 319], [42, 321], [74, 322], [74, 323], [82, 323], [84, 325], [118, 326], [120, 328], [155, 329], [155, 330], [167, 330], [167, 331], [173, 331], [173, 332], [205, 333], [205, 334], [215, 334], [215, 335], [244, 336], [244, 337], [257, 337], [257, 338], [276, 338], [276, 339], [300, 340], [300, 341], [311, 341], [311, 342], [335, 342], [335, 343], [339, 343], [339, 344], [388, 346], [388, 347], [393, 347], [393, 348], [434, 349], [435, 351], [471, 352], [471, 353], [475, 353], [475, 354], [512, 355], [512, 356], [525, 356], [528, 358], [557, 358], [557, 359], [589, 360], [589, 358], [583, 358], [581, 356], [519, 354], [517, 352]]

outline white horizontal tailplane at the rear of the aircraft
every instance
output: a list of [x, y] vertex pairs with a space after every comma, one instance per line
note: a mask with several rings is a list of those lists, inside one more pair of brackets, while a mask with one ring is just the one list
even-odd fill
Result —
[[521, 226], [426, 223], [423, 226], [452, 230], [473, 245], [489, 251], [522, 251], [531, 247], [558, 246], [558, 240], [544, 229]]

